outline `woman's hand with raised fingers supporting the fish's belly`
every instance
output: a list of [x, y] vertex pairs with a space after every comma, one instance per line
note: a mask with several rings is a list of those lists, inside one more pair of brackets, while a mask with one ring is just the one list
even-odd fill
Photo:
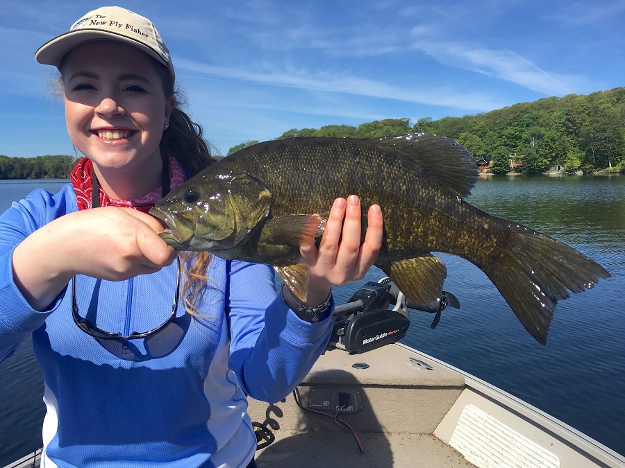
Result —
[[383, 218], [378, 205], [369, 207], [367, 232], [361, 245], [362, 220], [360, 199], [337, 198], [332, 205], [319, 248], [301, 245], [300, 253], [308, 264], [306, 304], [324, 302], [332, 286], [363, 279], [374, 264], [382, 247]]

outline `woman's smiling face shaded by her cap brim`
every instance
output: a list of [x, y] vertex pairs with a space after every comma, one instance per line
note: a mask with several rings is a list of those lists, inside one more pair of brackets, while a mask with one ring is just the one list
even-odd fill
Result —
[[69, 137], [101, 173], [160, 177], [158, 145], [174, 98], [147, 54], [121, 42], [82, 44], [65, 59], [63, 94]]

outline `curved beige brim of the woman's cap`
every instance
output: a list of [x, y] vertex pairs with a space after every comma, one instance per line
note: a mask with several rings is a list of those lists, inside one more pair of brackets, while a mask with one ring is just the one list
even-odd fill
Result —
[[123, 42], [124, 44], [136, 47], [151, 57], [156, 58], [158, 62], [162, 63], [166, 67], [169, 67], [169, 69], [172, 68], [171, 64], [169, 64], [167, 60], [163, 59], [158, 52], [141, 42], [135, 41], [124, 35], [110, 33], [108, 31], [94, 31], [89, 29], [70, 31], [69, 33], [54, 37], [37, 49], [35, 52], [35, 60], [41, 64], [54, 65], [55, 67], [58, 67], [66, 53], [81, 44], [85, 44], [85, 42], [97, 40], [113, 40]]

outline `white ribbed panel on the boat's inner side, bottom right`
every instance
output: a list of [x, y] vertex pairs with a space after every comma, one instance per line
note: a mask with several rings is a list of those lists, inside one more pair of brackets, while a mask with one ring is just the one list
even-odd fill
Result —
[[462, 410], [449, 441], [479, 468], [559, 468], [560, 459], [474, 405]]

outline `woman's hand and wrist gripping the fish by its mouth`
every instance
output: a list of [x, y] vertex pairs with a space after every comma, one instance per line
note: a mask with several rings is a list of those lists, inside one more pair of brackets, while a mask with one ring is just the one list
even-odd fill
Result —
[[111, 281], [152, 273], [176, 251], [158, 232], [160, 221], [135, 209], [76, 211], [41, 227], [13, 252], [13, 277], [34, 309], [44, 310], [74, 275]]

